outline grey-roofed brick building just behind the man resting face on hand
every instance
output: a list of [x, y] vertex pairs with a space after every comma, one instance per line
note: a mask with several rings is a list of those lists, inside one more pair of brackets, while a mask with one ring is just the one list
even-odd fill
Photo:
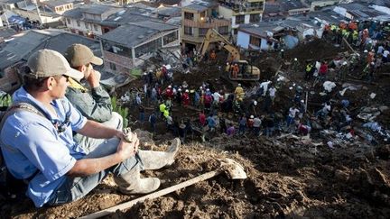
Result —
[[156, 50], [180, 45], [179, 26], [144, 21], [126, 23], [100, 36], [106, 70], [130, 74], [144, 64]]

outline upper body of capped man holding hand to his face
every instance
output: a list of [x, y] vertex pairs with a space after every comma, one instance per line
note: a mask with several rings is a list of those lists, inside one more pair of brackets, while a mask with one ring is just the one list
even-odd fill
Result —
[[[102, 65], [103, 60], [96, 57], [92, 50], [82, 44], [73, 44], [65, 52], [70, 67], [84, 73], [87, 83], [70, 79], [66, 96], [81, 114], [99, 123], [116, 120], [112, 114], [111, 98], [104, 87], [100, 85], [100, 73], [93, 65]], [[115, 122], [109, 122], [115, 125]], [[109, 124], [110, 125], [110, 124]]]

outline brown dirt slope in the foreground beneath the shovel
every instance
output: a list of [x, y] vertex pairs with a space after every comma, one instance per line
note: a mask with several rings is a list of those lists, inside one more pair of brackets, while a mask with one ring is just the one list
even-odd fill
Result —
[[[170, 187], [202, 173], [218, 169], [216, 160], [232, 158], [246, 169], [248, 178], [229, 179], [225, 175], [202, 181], [172, 194], [134, 205], [110, 218], [142, 217], [376, 217], [390, 214], [388, 145], [384, 148], [352, 148], [317, 151], [301, 141], [237, 140], [210, 148], [200, 144], [183, 146], [172, 167], [146, 171], [144, 176], [162, 179]], [[164, 150], [166, 144], [153, 146]], [[379, 158], [375, 154], [381, 154]], [[384, 156], [387, 154], [387, 156]], [[93, 213], [134, 199], [116, 191], [107, 178], [85, 198], [71, 204], [13, 214], [19, 218], [71, 218]], [[25, 208], [25, 205], [23, 207]], [[19, 206], [20, 207], [20, 206]], [[14, 211], [18, 206], [14, 206]], [[16, 210], [17, 211], [17, 210]], [[4, 211], [3, 211], [4, 212]]]

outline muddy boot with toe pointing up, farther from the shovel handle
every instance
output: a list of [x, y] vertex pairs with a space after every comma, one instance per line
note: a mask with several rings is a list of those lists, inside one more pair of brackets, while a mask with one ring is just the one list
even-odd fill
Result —
[[179, 151], [181, 141], [179, 138], [172, 140], [171, 146], [167, 151], [142, 151], [139, 150], [137, 155], [140, 158], [144, 169], [161, 169], [166, 166], [172, 165], [174, 158]]

